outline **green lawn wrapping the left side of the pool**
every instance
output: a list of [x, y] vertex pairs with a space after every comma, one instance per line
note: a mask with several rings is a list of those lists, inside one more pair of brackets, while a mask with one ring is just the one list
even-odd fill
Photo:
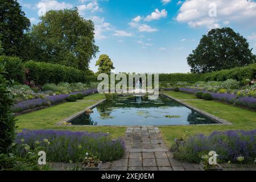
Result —
[[113, 138], [125, 135], [126, 127], [114, 126], [56, 126], [55, 124], [73, 114], [95, 104], [104, 99], [104, 94], [93, 94], [87, 96], [84, 100], [77, 102], [65, 102], [64, 104], [48, 107], [46, 109], [34, 111], [32, 113], [19, 115], [16, 117], [16, 126], [18, 131], [22, 129], [55, 129], [55, 130], [71, 130], [71, 131], [93, 131], [110, 133]]

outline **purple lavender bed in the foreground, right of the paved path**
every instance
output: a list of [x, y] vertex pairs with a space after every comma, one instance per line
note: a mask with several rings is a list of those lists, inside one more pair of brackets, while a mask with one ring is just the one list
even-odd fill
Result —
[[201, 161], [201, 156], [209, 151], [216, 151], [220, 163], [240, 163], [237, 160], [243, 157], [243, 163], [252, 164], [256, 158], [256, 130], [252, 131], [215, 131], [208, 137], [196, 135], [189, 138], [184, 147], [174, 152], [175, 158], [187, 162]]

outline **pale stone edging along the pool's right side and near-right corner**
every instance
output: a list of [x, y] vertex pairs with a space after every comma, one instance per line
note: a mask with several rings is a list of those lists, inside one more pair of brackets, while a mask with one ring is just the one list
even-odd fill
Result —
[[195, 110], [197, 113], [200, 113], [200, 114], [204, 115], [205, 117], [208, 117], [208, 118], [212, 119], [213, 121], [218, 122], [218, 123], [215, 123], [215, 124], [202, 124], [202, 125], [232, 125], [232, 123], [226, 121], [225, 119], [218, 118], [215, 115], [209, 114], [209, 113], [207, 113], [207, 112], [205, 112], [205, 111], [203, 111], [201, 109], [197, 109], [196, 107], [188, 105], [185, 102], [177, 100], [174, 97], [168, 96], [167, 94], [164, 94], [164, 93], [162, 93], [162, 95], [164, 97], [170, 98], [170, 99], [172, 99], [172, 100], [174, 100], [176, 102], [179, 102], [180, 104], [184, 105], [185, 107], [188, 107], [191, 110]]

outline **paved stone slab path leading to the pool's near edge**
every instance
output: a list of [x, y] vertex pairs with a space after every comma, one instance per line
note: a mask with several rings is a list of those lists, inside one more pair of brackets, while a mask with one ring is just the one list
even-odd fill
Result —
[[158, 127], [128, 127], [122, 159], [104, 163], [105, 171], [200, 171], [199, 164], [180, 163], [168, 151]]

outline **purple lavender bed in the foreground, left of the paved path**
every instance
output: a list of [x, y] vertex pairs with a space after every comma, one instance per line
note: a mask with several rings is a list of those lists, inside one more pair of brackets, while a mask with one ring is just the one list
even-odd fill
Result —
[[125, 151], [122, 139], [112, 141], [108, 134], [85, 131], [23, 130], [17, 135], [15, 143], [20, 146], [19, 150], [22, 150], [24, 143], [31, 148], [48, 143], [48, 162], [79, 162], [88, 152], [107, 162], [122, 158]]

